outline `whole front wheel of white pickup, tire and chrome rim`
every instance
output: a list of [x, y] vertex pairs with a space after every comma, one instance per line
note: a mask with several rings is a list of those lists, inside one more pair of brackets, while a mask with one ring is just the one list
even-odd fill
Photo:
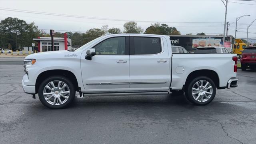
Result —
[[75, 97], [72, 82], [63, 76], [46, 78], [38, 88], [38, 96], [44, 106], [51, 109], [67, 107]]

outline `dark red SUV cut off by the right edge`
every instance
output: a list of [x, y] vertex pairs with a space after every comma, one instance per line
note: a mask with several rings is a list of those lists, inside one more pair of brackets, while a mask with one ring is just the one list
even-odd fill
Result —
[[248, 66], [250, 69], [256, 68], [256, 46], [244, 48], [240, 60], [241, 69], [243, 71], [245, 71]]

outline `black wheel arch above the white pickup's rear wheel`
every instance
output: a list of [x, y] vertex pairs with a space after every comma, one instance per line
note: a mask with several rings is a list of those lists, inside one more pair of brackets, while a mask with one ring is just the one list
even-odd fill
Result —
[[190, 72], [190, 74], [186, 78], [185, 86], [188, 86], [189, 82], [198, 76], [207, 76], [208, 78], [212, 79], [212, 81], [214, 82], [214, 84], [216, 85], [217, 88], [220, 88], [219, 87], [220, 79], [219, 79], [217, 72], [215, 72], [214, 70], [208, 70], [208, 69], [195, 70], [193, 72]]

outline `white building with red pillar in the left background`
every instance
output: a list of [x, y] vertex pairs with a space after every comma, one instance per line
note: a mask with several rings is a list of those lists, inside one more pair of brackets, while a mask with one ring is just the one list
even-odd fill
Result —
[[[33, 38], [34, 41], [38, 42], [38, 52], [53, 51], [51, 37], [38, 37]], [[71, 39], [67, 38], [64, 34], [64, 38], [54, 37], [54, 51], [56, 50], [71, 50], [72, 44]]]

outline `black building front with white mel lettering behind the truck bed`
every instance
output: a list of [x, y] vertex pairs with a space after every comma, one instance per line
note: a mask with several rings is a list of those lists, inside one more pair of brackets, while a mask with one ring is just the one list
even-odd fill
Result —
[[[171, 35], [171, 44], [182, 46], [189, 52], [193, 52], [199, 46], [223, 46], [223, 36], [182, 36]], [[230, 42], [231, 36], [225, 37], [225, 42]]]

